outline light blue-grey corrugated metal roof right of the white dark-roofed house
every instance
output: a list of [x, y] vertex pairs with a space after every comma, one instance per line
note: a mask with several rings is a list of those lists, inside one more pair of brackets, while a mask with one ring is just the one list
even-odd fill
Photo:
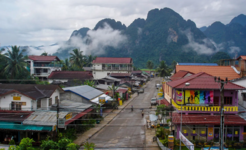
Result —
[[84, 97], [87, 100], [91, 100], [91, 99], [103, 94], [102, 91], [99, 91], [99, 90], [97, 90], [93, 87], [90, 87], [88, 85], [66, 87], [66, 88], [63, 88], [63, 90], [73, 92], [73, 93], [75, 93], [81, 97]]

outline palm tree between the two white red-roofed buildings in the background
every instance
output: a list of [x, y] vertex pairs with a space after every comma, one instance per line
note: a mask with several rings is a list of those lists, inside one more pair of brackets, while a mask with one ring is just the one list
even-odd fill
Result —
[[73, 53], [70, 53], [70, 61], [75, 68], [79, 68], [80, 70], [83, 70], [83, 64], [84, 64], [84, 56], [82, 55], [83, 51], [80, 51], [80, 49], [74, 49]]

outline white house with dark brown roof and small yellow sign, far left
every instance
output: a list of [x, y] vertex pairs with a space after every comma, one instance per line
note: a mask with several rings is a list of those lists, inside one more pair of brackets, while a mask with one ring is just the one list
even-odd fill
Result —
[[57, 85], [1, 84], [0, 109], [49, 110], [53, 104], [59, 102], [62, 92]]

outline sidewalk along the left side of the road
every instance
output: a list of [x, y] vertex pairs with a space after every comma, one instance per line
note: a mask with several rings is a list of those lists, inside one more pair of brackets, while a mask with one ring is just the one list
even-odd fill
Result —
[[78, 138], [74, 141], [75, 144], [82, 145], [92, 136], [97, 134], [100, 130], [102, 130], [107, 124], [109, 124], [134, 98], [137, 97], [137, 93], [133, 94], [132, 97], [127, 100], [123, 105], [119, 106], [119, 109], [112, 111], [108, 114], [100, 124], [96, 125], [94, 128], [89, 129], [88, 131], [80, 134]]

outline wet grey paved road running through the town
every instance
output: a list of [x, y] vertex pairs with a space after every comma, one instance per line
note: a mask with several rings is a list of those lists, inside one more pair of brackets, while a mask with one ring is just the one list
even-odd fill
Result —
[[[144, 93], [139, 94], [123, 109], [110, 124], [94, 135], [89, 142], [96, 145], [96, 149], [114, 150], [142, 150], [145, 149], [145, 122], [141, 109], [145, 115], [150, 113], [150, 99], [156, 95], [155, 82], [152, 79], [147, 84]], [[131, 105], [134, 111], [131, 111]], [[152, 112], [153, 113], [153, 112]]]

